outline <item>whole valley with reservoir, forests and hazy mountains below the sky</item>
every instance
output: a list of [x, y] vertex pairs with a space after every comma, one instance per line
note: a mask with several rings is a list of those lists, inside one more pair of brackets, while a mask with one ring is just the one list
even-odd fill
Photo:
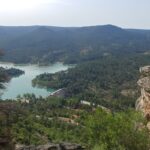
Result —
[[0, 81], [0, 146], [149, 150], [148, 120], [135, 109], [139, 68], [150, 64], [149, 30], [33, 26], [0, 33], [0, 66], [24, 71]]

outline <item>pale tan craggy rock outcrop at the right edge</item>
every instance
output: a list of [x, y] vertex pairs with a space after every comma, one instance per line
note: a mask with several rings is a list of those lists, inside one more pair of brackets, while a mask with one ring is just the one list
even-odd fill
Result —
[[141, 96], [136, 102], [136, 110], [143, 113], [147, 121], [150, 121], [150, 66], [140, 68], [141, 78], [137, 82], [141, 88]]

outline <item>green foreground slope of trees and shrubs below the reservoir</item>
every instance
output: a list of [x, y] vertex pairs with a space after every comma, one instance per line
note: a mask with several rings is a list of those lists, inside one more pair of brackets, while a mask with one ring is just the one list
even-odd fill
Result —
[[24, 147], [32, 145], [36, 150], [33, 145], [63, 142], [78, 143], [85, 150], [149, 150], [150, 147], [150, 136], [144, 128], [146, 120], [134, 110], [107, 112], [82, 105], [75, 98], [44, 99], [30, 94], [18, 97], [18, 101], [0, 101], [0, 108], [0, 137], [7, 140], [0, 148], [17, 143]]

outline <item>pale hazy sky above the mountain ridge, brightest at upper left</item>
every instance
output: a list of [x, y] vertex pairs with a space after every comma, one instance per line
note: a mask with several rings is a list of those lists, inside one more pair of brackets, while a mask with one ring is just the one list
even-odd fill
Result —
[[150, 29], [150, 0], [0, 0], [3, 26], [104, 24]]

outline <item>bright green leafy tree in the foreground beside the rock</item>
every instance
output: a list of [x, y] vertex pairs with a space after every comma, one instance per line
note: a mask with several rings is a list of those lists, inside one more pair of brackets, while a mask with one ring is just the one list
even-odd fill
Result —
[[84, 140], [93, 149], [102, 150], [149, 150], [150, 136], [145, 128], [137, 128], [144, 123], [139, 113], [107, 113], [97, 109], [85, 120]]

